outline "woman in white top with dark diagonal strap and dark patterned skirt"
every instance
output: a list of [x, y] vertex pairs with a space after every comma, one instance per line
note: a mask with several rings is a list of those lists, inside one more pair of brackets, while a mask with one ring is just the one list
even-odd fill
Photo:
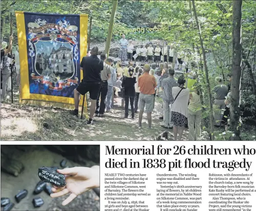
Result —
[[183, 131], [187, 126], [187, 114], [188, 114], [188, 100], [189, 100], [189, 89], [184, 87], [186, 80], [184, 75], [178, 78], [179, 86], [173, 87], [172, 93], [174, 101], [172, 108], [172, 122], [174, 123], [174, 140], [177, 140], [179, 133], [179, 140], [181, 140]]

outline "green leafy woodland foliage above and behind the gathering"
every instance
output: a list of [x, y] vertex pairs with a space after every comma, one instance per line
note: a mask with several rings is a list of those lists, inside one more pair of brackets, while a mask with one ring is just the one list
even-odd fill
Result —
[[[1, 20], [5, 17], [5, 26], [1, 27], [1, 36], [8, 41], [10, 35], [10, 5], [13, 10], [40, 12], [40, 13], [61, 13], [61, 14], [90, 14], [93, 12], [92, 35], [91, 39], [105, 41], [108, 33], [109, 19], [112, 11], [112, 1], [2, 1]], [[231, 73], [232, 68], [232, 1], [195, 1], [199, 25], [201, 28], [206, 60], [209, 72], [210, 88], [215, 85], [215, 77], [224, 78], [227, 84], [227, 74]], [[256, 2], [252, 0], [243, 1], [242, 7], [242, 45], [247, 55], [249, 50], [248, 62], [253, 67], [252, 72], [255, 78], [255, 7]], [[68, 9], [67, 9], [68, 8]], [[146, 29], [160, 28], [155, 32], [138, 32], [134, 28], [143, 27]], [[120, 39], [121, 33], [126, 34], [127, 39], [136, 40], [165, 40], [167, 43], [174, 43], [175, 51], [189, 49], [192, 56], [199, 58], [198, 73], [201, 89], [203, 90], [203, 126], [209, 127], [209, 103], [207, 96], [207, 86], [205, 84], [205, 74], [200, 60], [202, 50], [197, 25], [191, 5], [185, 1], [125, 1], [119, 0], [115, 15], [113, 39]], [[15, 15], [13, 13], [13, 35], [14, 45], [16, 39]], [[252, 40], [254, 39], [254, 41]], [[253, 42], [252, 42], [253, 41]], [[194, 48], [194, 49], [193, 49]], [[248, 69], [242, 61], [242, 85], [243, 93], [241, 106], [250, 109], [251, 117], [256, 117], [255, 96], [251, 89], [251, 78]], [[250, 108], [249, 108], [250, 107]], [[248, 119], [248, 118], [247, 118]], [[244, 120], [247, 120], [244, 119]], [[223, 136], [223, 134], [221, 135]]]

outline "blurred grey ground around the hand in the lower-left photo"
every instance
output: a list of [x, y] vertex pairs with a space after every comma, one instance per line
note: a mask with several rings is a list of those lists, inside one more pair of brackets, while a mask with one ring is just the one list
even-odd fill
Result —
[[[38, 195], [33, 195], [33, 191], [37, 182], [40, 181], [37, 171], [42, 166], [52, 167], [59, 166], [59, 162], [62, 159], [66, 159], [61, 155], [47, 150], [45, 147], [37, 145], [28, 152], [21, 152], [13, 149], [13, 158], [18, 159], [25, 166], [25, 170], [17, 177], [9, 175], [1, 171], [1, 197], [10, 198], [11, 202], [15, 204], [13, 211], [15, 210], [99, 210], [99, 197], [93, 190], [79, 195], [73, 202], [67, 206], [62, 206], [61, 202], [65, 200], [68, 195], [59, 198], [52, 199], [44, 191]], [[46, 159], [47, 158], [47, 159]], [[67, 160], [67, 159], [66, 159]], [[87, 167], [92, 167], [96, 163], [92, 161], [87, 162]], [[75, 167], [80, 166], [77, 163], [68, 160], [67, 166]], [[16, 203], [14, 196], [21, 190], [26, 189], [28, 195], [22, 199], [19, 203]], [[41, 197], [44, 200], [44, 205], [39, 208], [34, 208], [32, 200], [34, 197]]]

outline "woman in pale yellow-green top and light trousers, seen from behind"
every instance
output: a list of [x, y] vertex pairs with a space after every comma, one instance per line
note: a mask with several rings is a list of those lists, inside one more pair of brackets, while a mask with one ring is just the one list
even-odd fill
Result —
[[[200, 93], [197, 90], [197, 85], [194, 85], [194, 92], [189, 95], [188, 105], [188, 140], [201, 140], [201, 114], [202, 104], [200, 101]], [[195, 125], [195, 127], [194, 127]]]

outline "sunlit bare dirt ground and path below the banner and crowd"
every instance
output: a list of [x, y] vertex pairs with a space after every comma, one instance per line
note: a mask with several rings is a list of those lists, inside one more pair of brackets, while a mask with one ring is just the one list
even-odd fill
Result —
[[[20, 105], [15, 87], [14, 103], [11, 104], [10, 98], [1, 103], [1, 140], [155, 140], [164, 131], [169, 131], [169, 140], [173, 140], [173, 130], [160, 126], [161, 105], [161, 98], [156, 98], [152, 129], [147, 128], [146, 113], [142, 128], [138, 127], [138, 113], [135, 119], [131, 119], [131, 113], [129, 119], [124, 119], [120, 99], [114, 103], [111, 113], [106, 113], [104, 118], [94, 118], [95, 124], [87, 125], [86, 119], [70, 115], [67, 109]], [[243, 140], [255, 140], [255, 126], [245, 125], [244, 128]], [[218, 140], [227, 140], [222, 135], [223, 128], [216, 130], [220, 134]], [[201, 140], [208, 140], [207, 137], [207, 132], [202, 131]], [[188, 129], [182, 139], [188, 139]]]

